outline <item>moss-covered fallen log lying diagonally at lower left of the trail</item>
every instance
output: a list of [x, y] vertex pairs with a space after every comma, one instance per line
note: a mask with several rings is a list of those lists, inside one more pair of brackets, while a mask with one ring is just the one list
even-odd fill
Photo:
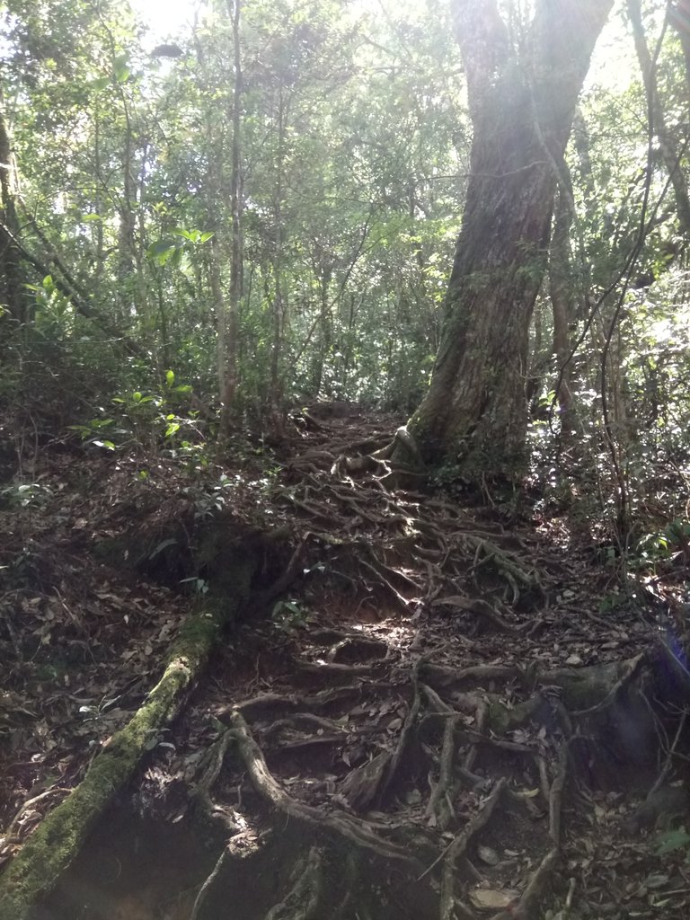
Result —
[[253, 565], [236, 566], [232, 596], [208, 604], [182, 628], [158, 684], [129, 723], [94, 758], [84, 780], [49, 814], [0, 875], [0, 920], [29, 920], [31, 907], [50, 891], [84, 845], [113, 796], [132, 779], [144, 755], [175, 719], [185, 690], [201, 674], [222, 628], [247, 601]]

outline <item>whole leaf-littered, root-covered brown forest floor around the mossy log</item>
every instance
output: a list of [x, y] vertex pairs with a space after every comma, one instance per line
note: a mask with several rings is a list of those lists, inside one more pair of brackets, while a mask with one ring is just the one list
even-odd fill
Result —
[[202, 482], [55, 443], [2, 491], [0, 872], [213, 593], [174, 526], [284, 535], [37, 917], [690, 916], [683, 571], [662, 608], [577, 504], [393, 488], [352, 457], [397, 424], [314, 407]]

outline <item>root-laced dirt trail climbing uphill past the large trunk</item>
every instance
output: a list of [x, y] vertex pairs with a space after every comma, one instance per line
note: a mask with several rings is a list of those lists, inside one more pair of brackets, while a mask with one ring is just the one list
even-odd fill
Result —
[[[278, 577], [266, 560], [245, 624], [117, 803], [121, 829], [101, 827], [46, 910], [686, 916], [686, 845], [655, 850], [687, 818], [677, 625], [603, 614], [610, 575], [565, 520], [489, 490], [470, 507], [390, 489], [385, 461], [353, 462], [392, 418], [331, 404], [293, 424], [262, 509], [292, 556]], [[660, 777], [676, 794], [647, 814]], [[146, 830], [161, 826], [169, 846]]]

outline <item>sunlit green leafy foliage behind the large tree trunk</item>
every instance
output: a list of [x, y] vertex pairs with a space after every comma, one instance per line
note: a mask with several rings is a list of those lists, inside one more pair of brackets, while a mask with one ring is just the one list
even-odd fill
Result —
[[[2, 319], [13, 443], [29, 419], [39, 439], [72, 431], [106, 450], [213, 440], [228, 310], [238, 430], [280, 427], [287, 408], [319, 399], [402, 415], [419, 404], [471, 140], [448, 6], [249, 0], [237, 35], [234, 12], [202, 6], [156, 49], [126, 5], [7, 6], [0, 79], [25, 305]], [[653, 50], [661, 18], [642, 13]], [[686, 517], [687, 228], [658, 132], [650, 141], [624, 9], [604, 48], [625, 65], [607, 74], [595, 61], [568, 153], [572, 414], [566, 430], [545, 287], [526, 374], [531, 478], [546, 500], [586, 499], [606, 519], [613, 449], [649, 537], [669, 504]], [[676, 30], [655, 64], [683, 184]]]

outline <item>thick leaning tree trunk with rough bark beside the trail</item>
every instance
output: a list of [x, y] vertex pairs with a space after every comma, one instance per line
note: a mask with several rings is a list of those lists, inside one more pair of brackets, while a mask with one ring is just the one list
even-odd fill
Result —
[[474, 138], [431, 385], [409, 423], [423, 458], [514, 477], [529, 323], [582, 82], [613, 0], [538, 0], [512, 31], [496, 0], [455, 0]]

